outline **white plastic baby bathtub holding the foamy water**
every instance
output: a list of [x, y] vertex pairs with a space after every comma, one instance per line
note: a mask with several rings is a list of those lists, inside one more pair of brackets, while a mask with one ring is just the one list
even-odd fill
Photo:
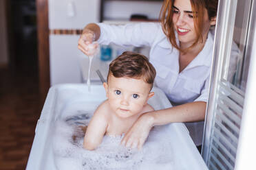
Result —
[[[87, 91], [85, 84], [62, 84], [50, 88], [41, 117], [36, 125], [34, 142], [26, 169], [57, 169], [52, 147], [54, 123], [58, 119], [69, 116], [69, 112], [65, 112], [67, 106], [76, 107], [76, 103], [83, 101], [86, 108], [87, 102], [100, 103], [105, 99], [105, 90], [102, 85], [94, 85], [91, 88], [91, 92]], [[171, 106], [162, 90], [154, 87], [153, 91], [155, 95], [149, 99], [149, 104], [155, 110]], [[207, 169], [183, 123], [170, 123], [158, 128], [166, 133], [165, 138], [169, 141], [170, 147], [173, 148], [173, 160], [175, 165], [179, 165], [175, 169]]]

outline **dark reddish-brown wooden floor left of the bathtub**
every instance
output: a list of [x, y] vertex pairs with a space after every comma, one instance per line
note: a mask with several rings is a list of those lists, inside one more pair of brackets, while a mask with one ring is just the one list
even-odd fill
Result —
[[0, 170], [26, 167], [41, 112], [37, 75], [0, 69]]

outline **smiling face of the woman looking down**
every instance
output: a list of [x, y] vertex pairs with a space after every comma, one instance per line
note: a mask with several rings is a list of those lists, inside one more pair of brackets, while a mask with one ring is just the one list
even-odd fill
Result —
[[[184, 47], [189, 47], [195, 42], [197, 36], [195, 32], [195, 25], [193, 17], [196, 14], [192, 12], [190, 0], [175, 0], [173, 4], [173, 25], [178, 33], [178, 39], [180, 40], [180, 45]], [[206, 40], [206, 36], [209, 32], [211, 23], [209, 21], [207, 10], [204, 9], [204, 19], [203, 19], [203, 39]]]

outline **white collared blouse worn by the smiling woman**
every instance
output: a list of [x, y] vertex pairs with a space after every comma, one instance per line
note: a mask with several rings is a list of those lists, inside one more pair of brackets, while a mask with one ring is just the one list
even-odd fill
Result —
[[156, 68], [155, 84], [174, 105], [208, 100], [213, 56], [213, 35], [209, 33], [202, 51], [179, 73], [179, 51], [172, 47], [160, 23], [107, 25], [99, 23], [100, 44], [122, 47], [149, 46], [149, 61]]

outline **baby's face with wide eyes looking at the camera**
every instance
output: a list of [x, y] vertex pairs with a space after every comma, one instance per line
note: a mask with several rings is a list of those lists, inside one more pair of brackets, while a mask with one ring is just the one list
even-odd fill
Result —
[[149, 93], [150, 84], [141, 79], [109, 75], [108, 84], [104, 86], [111, 109], [122, 118], [142, 112], [147, 100], [153, 96]]

